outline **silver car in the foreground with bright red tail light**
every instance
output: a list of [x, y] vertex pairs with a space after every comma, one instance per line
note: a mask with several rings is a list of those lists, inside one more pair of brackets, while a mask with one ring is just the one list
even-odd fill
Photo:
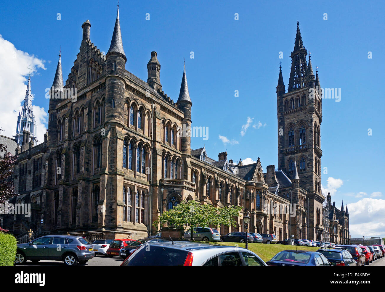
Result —
[[208, 245], [195, 242], [153, 242], [135, 250], [122, 266], [136, 265], [263, 265], [254, 252], [242, 247]]

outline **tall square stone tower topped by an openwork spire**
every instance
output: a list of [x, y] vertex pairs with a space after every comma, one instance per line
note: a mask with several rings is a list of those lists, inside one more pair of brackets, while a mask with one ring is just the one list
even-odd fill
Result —
[[310, 56], [306, 63], [306, 55], [297, 22], [288, 92], [285, 93], [281, 67], [276, 91], [278, 167], [288, 175], [293, 175], [297, 167], [300, 187], [307, 193], [304, 207], [308, 210], [309, 238], [316, 239], [323, 230], [322, 218], [318, 222], [316, 212], [322, 210], [325, 200], [321, 193], [322, 92], [318, 72], [315, 76]]

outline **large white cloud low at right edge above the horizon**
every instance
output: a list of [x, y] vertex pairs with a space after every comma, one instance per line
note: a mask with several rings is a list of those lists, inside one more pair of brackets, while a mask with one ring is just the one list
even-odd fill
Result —
[[385, 237], [385, 200], [363, 198], [348, 205], [352, 237]]

